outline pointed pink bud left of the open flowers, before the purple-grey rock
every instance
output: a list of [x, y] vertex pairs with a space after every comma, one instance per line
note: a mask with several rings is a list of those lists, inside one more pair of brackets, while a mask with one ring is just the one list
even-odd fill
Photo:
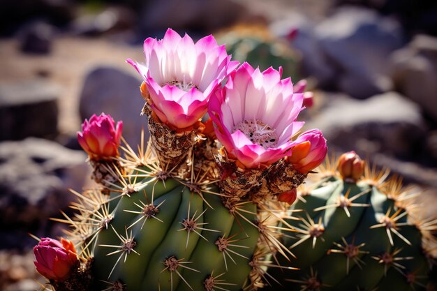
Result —
[[77, 132], [77, 140], [84, 151], [91, 159], [108, 160], [119, 156], [123, 122], [114, 124], [114, 119], [109, 114], [102, 113], [99, 117], [96, 114], [85, 119], [82, 124], [82, 132]]

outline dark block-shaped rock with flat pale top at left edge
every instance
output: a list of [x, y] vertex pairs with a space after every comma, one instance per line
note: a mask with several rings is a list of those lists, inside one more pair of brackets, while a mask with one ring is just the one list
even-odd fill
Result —
[[44, 80], [0, 84], [0, 140], [57, 135], [59, 94]]

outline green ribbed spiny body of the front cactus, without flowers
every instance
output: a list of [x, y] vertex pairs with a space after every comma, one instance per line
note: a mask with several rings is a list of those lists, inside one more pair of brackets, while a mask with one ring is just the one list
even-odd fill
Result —
[[223, 282], [238, 290], [250, 272], [242, 264], [249, 266], [258, 241], [255, 205], [232, 215], [207, 179], [161, 180], [159, 174], [138, 169], [130, 176], [135, 183], [121, 180], [120, 187], [126, 183], [121, 193], [98, 194], [105, 204], [81, 221], [98, 230], [94, 241], [87, 239], [94, 276], [101, 280], [96, 285], [100, 290], [119, 283], [128, 290], [214, 290]]

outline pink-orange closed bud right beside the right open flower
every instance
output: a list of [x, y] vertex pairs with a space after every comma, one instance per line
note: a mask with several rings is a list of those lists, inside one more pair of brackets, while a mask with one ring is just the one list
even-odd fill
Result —
[[292, 147], [287, 162], [291, 163], [295, 170], [306, 174], [320, 165], [327, 153], [325, 137], [318, 129], [302, 133]]

